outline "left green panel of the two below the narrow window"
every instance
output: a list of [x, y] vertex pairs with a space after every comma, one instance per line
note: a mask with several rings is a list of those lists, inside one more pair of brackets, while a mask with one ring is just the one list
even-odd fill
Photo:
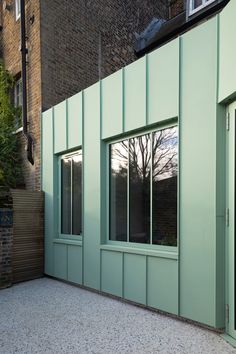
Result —
[[67, 245], [54, 244], [54, 276], [67, 280]]

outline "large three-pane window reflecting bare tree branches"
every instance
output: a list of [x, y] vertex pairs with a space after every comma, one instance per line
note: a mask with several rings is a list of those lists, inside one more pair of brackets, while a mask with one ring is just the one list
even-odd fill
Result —
[[178, 128], [110, 144], [109, 239], [177, 246]]

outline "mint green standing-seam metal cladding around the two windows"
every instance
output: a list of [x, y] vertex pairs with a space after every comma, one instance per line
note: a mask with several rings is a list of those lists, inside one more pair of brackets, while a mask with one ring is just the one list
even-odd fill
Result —
[[[225, 103], [236, 97], [236, 1], [42, 115], [45, 273], [225, 326]], [[178, 248], [106, 242], [110, 140], [179, 126]], [[82, 241], [58, 232], [58, 156], [82, 147]]]

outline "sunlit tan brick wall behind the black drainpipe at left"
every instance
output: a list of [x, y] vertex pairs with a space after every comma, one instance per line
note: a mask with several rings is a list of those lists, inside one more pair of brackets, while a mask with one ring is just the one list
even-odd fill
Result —
[[[16, 21], [14, 1], [7, 0], [11, 6], [10, 11], [1, 12], [1, 54], [4, 66], [14, 76], [21, 72], [21, 52], [20, 52], [20, 20]], [[34, 21], [32, 16], [34, 15]], [[21, 153], [23, 160], [23, 173], [27, 189], [40, 188], [40, 119], [41, 108], [41, 65], [40, 65], [40, 3], [39, 0], [26, 0], [26, 33], [28, 37], [27, 47], [28, 70], [28, 122], [29, 132], [34, 139], [34, 159], [35, 165], [31, 166], [26, 159], [26, 140], [22, 133], [19, 134], [21, 140]]]

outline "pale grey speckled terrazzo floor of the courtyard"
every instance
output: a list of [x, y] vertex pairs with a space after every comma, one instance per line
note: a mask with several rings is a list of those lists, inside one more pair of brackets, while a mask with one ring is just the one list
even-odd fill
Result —
[[233, 354], [219, 335], [43, 278], [0, 290], [0, 353]]

